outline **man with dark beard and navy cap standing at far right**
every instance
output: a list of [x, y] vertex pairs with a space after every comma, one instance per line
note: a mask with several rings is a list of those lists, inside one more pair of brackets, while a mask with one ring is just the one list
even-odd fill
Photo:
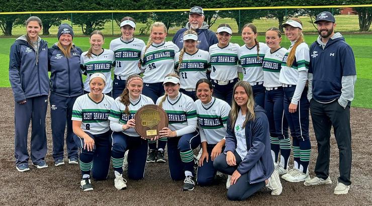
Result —
[[310, 113], [318, 143], [316, 177], [305, 185], [331, 184], [329, 177], [330, 131], [334, 129], [339, 150], [339, 172], [335, 194], [350, 188], [351, 130], [350, 104], [356, 81], [355, 59], [351, 47], [340, 33], [334, 33], [335, 19], [329, 12], [317, 16], [319, 37], [310, 47]]

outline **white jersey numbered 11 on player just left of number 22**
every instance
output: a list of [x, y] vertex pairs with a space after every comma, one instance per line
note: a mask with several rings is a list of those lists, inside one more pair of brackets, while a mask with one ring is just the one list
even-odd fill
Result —
[[145, 42], [137, 38], [129, 42], [123, 41], [121, 37], [112, 40], [110, 49], [114, 51], [116, 60], [114, 74], [126, 79], [129, 75], [140, 73], [138, 63], [144, 47]]

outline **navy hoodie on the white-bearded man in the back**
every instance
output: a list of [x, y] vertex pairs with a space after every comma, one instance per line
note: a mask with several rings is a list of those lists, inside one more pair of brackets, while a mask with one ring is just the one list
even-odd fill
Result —
[[[203, 22], [202, 27], [196, 30], [199, 42], [198, 48], [204, 51], [209, 51], [210, 46], [218, 43], [216, 34], [208, 28], [208, 24]], [[172, 42], [177, 45], [178, 48], [183, 48], [183, 33], [187, 30], [190, 30], [190, 22], [186, 24], [185, 28], [178, 30], [173, 36]]]

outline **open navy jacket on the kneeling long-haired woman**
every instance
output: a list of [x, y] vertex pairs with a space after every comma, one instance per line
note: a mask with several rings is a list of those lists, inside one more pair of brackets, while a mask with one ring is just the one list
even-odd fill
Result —
[[[255, 119], [245, 125], [245, 140], [247, 141], [247, 156], [238, 165], [238, 172], [248, 172], [249, 183], [262, 182], [268, 179], [274, 171], [271, 157], [270, 132], [265, 111], [259, 107], [254, 108]], [[225, 153], [234, 152], [236, 137], [231, 120], [227, 122]]]

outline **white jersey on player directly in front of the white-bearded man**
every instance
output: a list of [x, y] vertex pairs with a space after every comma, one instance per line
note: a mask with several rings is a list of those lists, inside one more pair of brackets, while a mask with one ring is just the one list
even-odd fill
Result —
[[[177, 52], [174, 56], [175, 69], [179, 65], [179, 54]], [[197, 81], [202, 78], [207, 78], [207, 69], [210, 65], [211, 57], [207, 51], [198, 49], [195, 54], [183, 53], [182, 63], [179, 67], [180, 88], [195, 89]]]

